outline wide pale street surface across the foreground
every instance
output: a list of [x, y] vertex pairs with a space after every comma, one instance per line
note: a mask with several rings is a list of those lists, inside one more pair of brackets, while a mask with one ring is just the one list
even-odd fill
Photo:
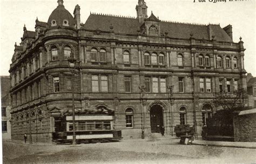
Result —
[[3, 142], [4, 163], [251, 163], [256, 149], [179, 145], [179, 139], [52, 145]]

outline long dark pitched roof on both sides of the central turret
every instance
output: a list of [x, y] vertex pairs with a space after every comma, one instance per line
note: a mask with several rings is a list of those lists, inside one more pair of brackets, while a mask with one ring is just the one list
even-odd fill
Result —
[[[152, 17], [151, 17], [152, 16]], [[151, 15], [152, 19], [155, 16]], [[149, 19], [149, 18], [148, 18]], [[109, 15], [98, 15], [92, 13], [81, 29], [109, 31], [112, 24], [115, 33], [137, 34], [139, 21], [137, 18], [116, 17]], [[215, 35], [217, 41], [233, 42], [230, 36], [220, 27], [220, 25], [195, 25], [173, 22], [159, 22], [160, 30], [167, 31], [171, 38], [189, 39], [190, 34], [196, 39], [212, 39]]]

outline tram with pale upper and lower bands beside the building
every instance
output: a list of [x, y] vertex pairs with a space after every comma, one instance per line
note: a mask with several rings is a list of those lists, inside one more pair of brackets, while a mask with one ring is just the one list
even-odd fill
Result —
[[[121, 130], [113, 129], [114, 116], [107, 115], [76, 115], [75, 129], [78, 143], [109, 142], [122, 139]], [[64, 128], [57, 128], [52, 133], [53, 142], [72, 142], [73, 122], [72, 116], [65, 116], [55, 120], [55, 126], [60, 124]]]

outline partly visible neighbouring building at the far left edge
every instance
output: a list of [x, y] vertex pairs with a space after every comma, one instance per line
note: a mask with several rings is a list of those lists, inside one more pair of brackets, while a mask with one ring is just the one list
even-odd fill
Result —
[[11, 139], [11, 101], [10, 101], [10, 76], [0, 76], [1, 109], [2, 109], [2, 139]]

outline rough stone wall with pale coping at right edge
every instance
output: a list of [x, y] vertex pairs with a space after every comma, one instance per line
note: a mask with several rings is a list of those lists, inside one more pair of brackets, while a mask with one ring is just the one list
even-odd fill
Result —
[[234, 141], [256, 141], [256, 109], [242, 111], [234, 117]]

